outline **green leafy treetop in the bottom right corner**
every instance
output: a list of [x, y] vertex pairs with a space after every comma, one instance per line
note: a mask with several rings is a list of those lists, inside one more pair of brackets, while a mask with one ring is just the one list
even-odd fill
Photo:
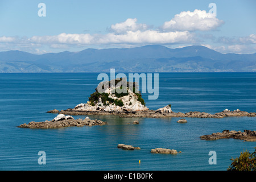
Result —
[[253, 153], [249, 151], [241, 152], [236, 159], [230, 159], [233, 162], [227, 169], [228, 171], [256, 171], [256, 147]]

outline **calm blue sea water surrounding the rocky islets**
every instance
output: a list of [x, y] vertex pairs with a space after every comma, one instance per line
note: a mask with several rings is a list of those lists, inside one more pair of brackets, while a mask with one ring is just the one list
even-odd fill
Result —
[[[226, 170], [243, 150], [254, 151], [256, 142], [200, 140], [222, 130], [256, 130], [255, 117], [119, 118], [90, 116], [109, 125], [64, 129], [20, 129], [31, 121], [53, 119], [52, 109], [86, 103], [94, 92], [98, 73], [0, 74], [0, 170]], [[127, 75], [128, 76], [128, 75]], [[177, 112], [224, 109], [256, 111], [256, 73], [159, 73], [159, 98], [147, 100], [150, 109], [172, 105]], [[74, 118], [85, 118], [86, 115]], [[139, 120], [139, 125], [127, 122]], [[141, 147], [124, 151], [119, 143]], [[151, 154], [152, 148], [182, 151], [177, 155]], [[38, 152], [46, 152], [46, 165]], [[217, 164], [210, 165], [209, 151]], [[139, 164], [141, 160], [141, 164]]]

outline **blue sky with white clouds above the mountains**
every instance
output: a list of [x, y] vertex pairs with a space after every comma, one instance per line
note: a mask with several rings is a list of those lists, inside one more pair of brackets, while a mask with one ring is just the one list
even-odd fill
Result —
[[255, 18], [255, 0], [0, 0], [0, 51], [42, 54], [158, 44], [255, 53]]

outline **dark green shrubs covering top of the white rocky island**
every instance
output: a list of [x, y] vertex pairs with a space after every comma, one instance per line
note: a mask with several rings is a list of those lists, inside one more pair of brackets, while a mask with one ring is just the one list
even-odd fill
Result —
[[[122, 81], [122, 78], [119, 78], [119, 80], [115, 80], [114, 84], [118, 85], [118, 83], [120, 83], [121, 81]], [[112, 82], [109, 81], [108, 85], [109, 85], [109, 88], [110, 88], [112, 86]], [[104, 89], [103, 86], [104, 85], [102, 85], [102, 89]], [[121, 85], [119, 87], [117, 86], [113, 90], [113, 94], [114, 94], [115, 97], [121, 98], [123, 96], [128, 96], [129, 95], [129, 93], [128, 93], [129, 82], [127, 82], [127, 85], [126, 85], [126, 89], [127, 89], [126, 93], [123, 93], [123, 92], [119, 93], [119, 92], [117, 92], [117, 89], [120, 89], [120, 90], [123, 89], [122, 86], [123, 85]], [[137, 95], [137, 97], [138, 97], [137, 100], [139, 102], [141, 102], [142, 105], [145, 105], [145, 101], [142, 98], [141, 92], [137, 93], [137, 90], [138, 90], [137, 87], [138, 87], [137, 84], [135, 82], [133, 82], [133, 93], [135, 93]], [[105, 105], [105, 106], [109, 105], [109, 104], [115, 104], [115, 105], [120, 106], [120, 107], [123, 106], [122, 100], [120, 100], [120, 99], [115, 99], [114, 100], [113, 98], [110, 98], [109, 97], [109, 93], [99, 93], [97, 88], [96, 88], [96, 92], [90, 94], [90, 97], [89, 97], [90, 105], [94, 106], [99, 101], [100, 98], [101, 98], [102, 104]], [[131, 105], [131, 102], [130, 102], [129, 105]]]

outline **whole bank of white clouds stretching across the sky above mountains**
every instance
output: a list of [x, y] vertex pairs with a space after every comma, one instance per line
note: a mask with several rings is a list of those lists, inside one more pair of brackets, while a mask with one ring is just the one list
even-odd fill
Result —
[[[42, 50], [43, 47], [67, 50], [70, 47], [85, 46], [135, 47], [146, 44], [177, 44], [177, 46], [205, 44], [206, 37], [213, 41], [213, 36], [209, 33], [203, 35], [200, 32], [217, 30], [222, 24], [224, 24], [223, 20], [204, 10], [183, 11], [176, 14], [170, 21], [164, 22], [162, 26], [155, 28], [138, 23], [137, 18], [128, 18], [124, 22], [112, 24], [106, 34], [61, 33], [30, 38], [2, 36], [0, 37], [0, 48], [2, 50], [21, 49], [32, 53], [45, 53], [46, 51]], [[208, 47], [215, 48], [217, 51], [243, 52], [248, 49], [249, 44], [256, 44], [256, 35], [251, 34], [241, 38], [220, 37], [217, 42], [226, 46]], [[250, 50], [254, 50], [254, 48], [250, 48]]]

